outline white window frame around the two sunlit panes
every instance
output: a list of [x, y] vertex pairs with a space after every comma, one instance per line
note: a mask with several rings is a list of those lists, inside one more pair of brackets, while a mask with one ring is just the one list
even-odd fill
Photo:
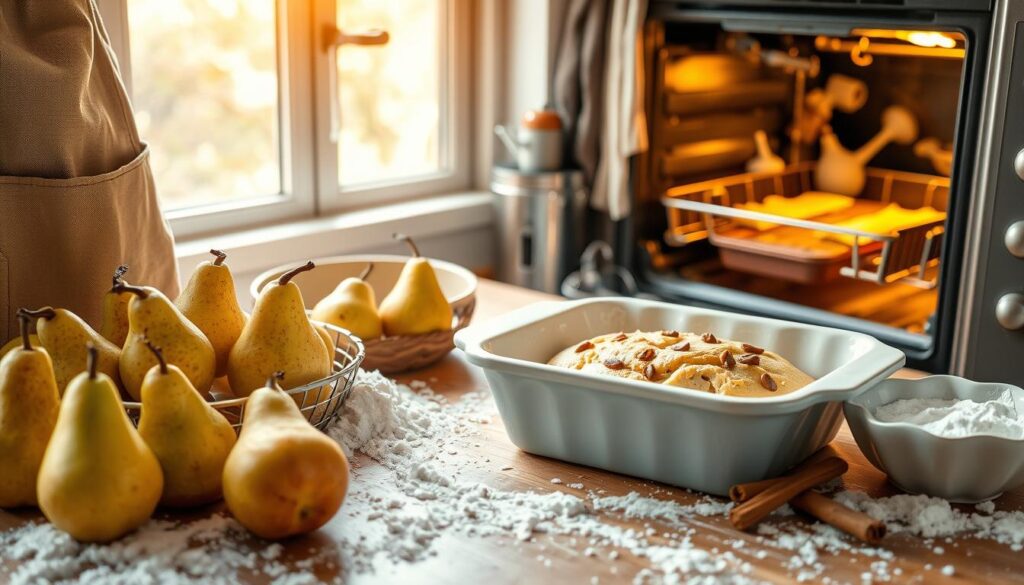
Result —
[[[129, 99], [131, 51], [128, 0], [95, 0], [121, 66]], [[465, 190], [471, 183], [472, 2], [442, 0], [441, 161], [445, 170], [426, 176], [341, 190], [338, 145], [330, 137], [324, 38], [336, 28], [335, 0], [278, 0], [279, 124], [282, 192], [165, 211], [177, 238], [196, 238]], [[373, 50], [369, 48], [368, 50]], [[143, 140], [145, 136], [142, 136]], [[157, 185], [158, 192], [160, 185]]]

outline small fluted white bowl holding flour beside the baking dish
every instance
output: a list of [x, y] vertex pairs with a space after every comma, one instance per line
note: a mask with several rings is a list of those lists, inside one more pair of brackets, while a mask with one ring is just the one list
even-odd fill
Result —
[[904, 492], [978, 503], [1024, 485], [1024, 440], [990, 434], [944, 437], [906, 422], [882, 422], [873, 411], [906, 399], [988, 401], [1009, 389], [1024, 412], [1024, 389], [956, 376], [889, 379], [843, 405], [857, 446]]

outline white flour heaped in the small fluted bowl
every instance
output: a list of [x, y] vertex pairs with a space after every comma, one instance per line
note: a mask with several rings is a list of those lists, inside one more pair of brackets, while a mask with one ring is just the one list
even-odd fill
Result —
[[946, 437], [991, 434], [1024, 438], [1024, 417], [1017, 412], [1009, 389], [985, 402], [971, 400], [909, 399], [883, 405], [873, 411], [882, 422], [906, 422]]

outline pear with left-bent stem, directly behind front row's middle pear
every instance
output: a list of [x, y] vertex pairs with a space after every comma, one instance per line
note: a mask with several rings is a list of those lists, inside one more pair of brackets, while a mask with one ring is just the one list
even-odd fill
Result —
[[155, 288], [122, 284], [115, 290], [135, 295], [128, 303], [128, 337], [121, 348], [121, 381], [128, 395], [141, 399], [142, 378], [157, 365], [157, 358], [145, 346], [146, 339], [163, 348], [167, 363], [181, 368], [196, 389], [208, 393], [217, 357], [206, 335]]

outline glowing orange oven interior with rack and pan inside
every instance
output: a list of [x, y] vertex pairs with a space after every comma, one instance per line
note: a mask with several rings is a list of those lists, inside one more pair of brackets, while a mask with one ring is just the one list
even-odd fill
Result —
[[658, 289], [927, 349], [965, 37], [672, 23], [658, 39], [639, 165], [658, 219], [638, 232]]

